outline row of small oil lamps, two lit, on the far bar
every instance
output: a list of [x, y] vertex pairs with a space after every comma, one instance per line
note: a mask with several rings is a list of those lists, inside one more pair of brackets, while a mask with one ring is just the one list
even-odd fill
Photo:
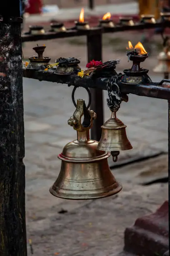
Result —
[[[170, 20], [170, 13], [160, 13], [161, 20]], [[156, 23], [154, 15], [141, 15], [140, 23]], [[131, 17], [120, 17], [120, 22], [117, 24], [119, 26], [134, 26], [135, 23]], [[51, 23], [51, 32], [65, 32], [67, 29], [65, 28], [63, 23]], [[115, 27], [113, 20], [111, 19], [111, 14], [106, 13], [102, 19], [99, 21], [99, 26], [102, 27]], [[84, 9], [82, 8], [80, 12], [79, 21], [75, 21], [75, 28], [77, 30], [88, 30], [90, 26], [87, 21], [84, 20]], [[44, 34], [45, 29], [42, 26], [30, 26], [30, 34], [38, 35]]]

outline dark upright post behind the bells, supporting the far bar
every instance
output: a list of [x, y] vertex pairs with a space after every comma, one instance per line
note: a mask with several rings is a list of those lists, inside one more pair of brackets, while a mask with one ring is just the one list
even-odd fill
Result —
[[[96, 61], [102, 60], [102, 33], [101, 30], [96, 35], [87, 36], [87, 52], [88, 62], [92, 59]], [[91, 138], [99, 141], [101, 138], [101, 125], [103, 125], [103, 92], [100, 89], [90, 89], [92, 103], [90, 108], [97, 114], [97, 119], [93, 122], [91, 129]]]

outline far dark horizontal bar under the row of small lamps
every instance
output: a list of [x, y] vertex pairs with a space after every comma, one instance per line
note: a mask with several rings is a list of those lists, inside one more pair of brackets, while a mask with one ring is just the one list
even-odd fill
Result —
[[157, 23], [137, 23], [134, 26], [120, 26], [116, 25], [114, 28], [102, 28], [102, 27], [94, 27], [89, 30], [77, 30], [70, 29], [65, 32], [46, 32], [41, 35], [30, 35], [29, 33], [25, 33], [22, 35], [22, 41], [39, 41], [39, 40], [48, 40], [54, 38], [66, 38], [72, 36], [88, 36], [95, 35], [98, 33], [114, 33], [120, 31], [134, 31], [134, 30], [142, 30], [142, 29], [150, 29], [150, 28], [167, 28], [170, 27], [170, 21], [157, 22]]

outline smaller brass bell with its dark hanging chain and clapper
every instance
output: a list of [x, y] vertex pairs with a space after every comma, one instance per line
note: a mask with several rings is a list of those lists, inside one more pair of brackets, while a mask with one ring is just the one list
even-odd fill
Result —
[[[117, 92], [112, 90], [112, 86], [117, 87]], [[111, 118], [109, 118], [104, 125], [102, 125], [102, 136], [98, 143], [97, 149], [100, 151], [110, 152], [112, 155], [113, 162], [116, 162], [120, 151], [129, 150], [132, 148], [127, 135], [126, 125], [122, 123], [116, 117], [117, 110], [120, 108], [122, 102], [122, 93], [120, 92], [119, 86], [117, 85], [117, 78], [112, 77], [107, 84], [108, 99], [107, 106], [111, 111]], [[125, 101], [128, 101], [128, 97], [125, 97]]]

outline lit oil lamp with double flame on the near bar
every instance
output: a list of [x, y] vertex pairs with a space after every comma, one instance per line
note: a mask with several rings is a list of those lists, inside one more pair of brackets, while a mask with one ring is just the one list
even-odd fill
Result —
[[133, 65], [131, 69], [123, 70], [124, 75], [121, 82], [125, 84], [148, 84], [149, 82], [151, 82], [151, 79], [147, 74], [149, 70], [140, 67], [140, 63], [148, 58], [147, 51], [145, 51], [145, 48], [140, 42], [135, 45], [135, 48], [133, 48], [130, 41], [128, 42], [128, 45], [129, 47], [127, 49], [131, 51], [127, 51], [127, 56], [130, 61], [133, 61]]

